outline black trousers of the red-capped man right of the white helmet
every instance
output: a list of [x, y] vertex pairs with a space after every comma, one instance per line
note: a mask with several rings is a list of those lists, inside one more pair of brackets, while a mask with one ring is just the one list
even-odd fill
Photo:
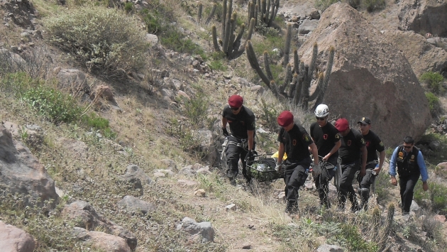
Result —
[[355, 191], [353, 187], [353, 180], [355, 177], [355, 172], [360, 169], [360, 160], [354, 163], [341, 164], [341, 179], [340, 179], [340, 190], [338, 191], [338, 208], [344, 209], [346, 198], [351, 201], [351, 209], [355, 210], [358, 208], [357, 197], [355, 196]]

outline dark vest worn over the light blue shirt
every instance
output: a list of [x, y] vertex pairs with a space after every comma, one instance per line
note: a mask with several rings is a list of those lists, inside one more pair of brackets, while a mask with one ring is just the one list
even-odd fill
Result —
[[411, 153], [407, 153], [405, 156], [404, 146], [399, 146], [397, 149], [397, 172], [401, 177], [407, 177], [409, 175], [420, 174], [419, 165], [417, 165], [417, 155], [419, 154], [419, 148], [413, 146]]

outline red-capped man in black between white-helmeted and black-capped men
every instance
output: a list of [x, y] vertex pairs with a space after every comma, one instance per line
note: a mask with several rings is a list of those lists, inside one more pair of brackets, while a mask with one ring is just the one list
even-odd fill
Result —
[[[345, 208], [346, 197], [351, 201], [351, 212], [360, 210], [360, 206], [355, 196], [353, 187], [353, 180], [355, 172], [360, 168], [360, 176], [365, 175], [366, 170], [366, 157], [368, 155], [365, 139], [362, 134], [349, 127], [348, 120], [342, 118], [336, 121], [335, 127], [340, 132], [343, 138], [341, 139], [341, 147], [338, 149], [338, 155], [341, 158], [341, 179], [340, 190], [338, 191], [338, 209], [343, 210]], [[360, 160], [361, 154], [361, 160]]]

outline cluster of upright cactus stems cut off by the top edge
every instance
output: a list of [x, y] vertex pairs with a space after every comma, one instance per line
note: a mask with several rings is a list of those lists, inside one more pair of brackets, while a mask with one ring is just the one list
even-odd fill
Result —
[[280, 0], [251, 0], [248, 3], [247, 16], [248, 18], [256, 18], [257, 23], [262, 22], [267, 27], [279, 28], [273, 23], [279, 8]]

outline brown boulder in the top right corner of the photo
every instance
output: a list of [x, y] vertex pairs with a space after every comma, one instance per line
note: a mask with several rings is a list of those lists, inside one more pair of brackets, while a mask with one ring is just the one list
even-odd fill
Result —
[[447, 1], [404, 0], [400, 6], [400, 30], [447, 37]]

